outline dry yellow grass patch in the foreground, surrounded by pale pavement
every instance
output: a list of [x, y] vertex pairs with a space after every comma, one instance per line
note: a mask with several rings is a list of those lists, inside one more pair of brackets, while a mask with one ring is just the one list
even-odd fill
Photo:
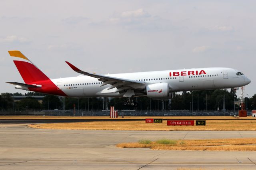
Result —
[[151, 148], [155, 150], [239, 150], [256, 151], [256, 138], [178, 140], [175, 144], [120, 143], [120, 148]]

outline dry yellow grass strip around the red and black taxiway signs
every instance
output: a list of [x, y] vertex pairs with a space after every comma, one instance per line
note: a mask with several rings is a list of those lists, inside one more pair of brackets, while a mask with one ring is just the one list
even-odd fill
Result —
[[256, 120], [206, 120], [206, 126], [167, 126], [145, 121], [95, 121], [29, 125], [33, 128], [78, 130], [256, 130]]

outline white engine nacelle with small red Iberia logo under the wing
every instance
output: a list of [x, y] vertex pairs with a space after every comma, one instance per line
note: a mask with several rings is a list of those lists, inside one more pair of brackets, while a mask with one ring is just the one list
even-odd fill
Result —
[[147, 97], [152, 98], [167, 98], [169, 97], [169, 84], [168, 83], [155, 83], [147, 85]]

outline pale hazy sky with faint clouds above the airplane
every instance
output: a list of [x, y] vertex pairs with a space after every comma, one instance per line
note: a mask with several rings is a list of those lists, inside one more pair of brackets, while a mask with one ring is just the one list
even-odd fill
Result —
[[251, 80], [254, 0], [1, 0], [0, 93], [25, 93], [8, 50], [50, 78], [77, 76], [65, 61], [99, 74], [231, 67]]

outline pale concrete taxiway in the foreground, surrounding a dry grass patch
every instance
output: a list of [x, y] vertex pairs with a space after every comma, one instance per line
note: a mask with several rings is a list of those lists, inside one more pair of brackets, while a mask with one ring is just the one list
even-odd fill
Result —
[[116, 148], [140, 139], [256, 137], [255, 131], [47, 130], [0, 124], [0, 169], [256, 169], [256, 152]]

